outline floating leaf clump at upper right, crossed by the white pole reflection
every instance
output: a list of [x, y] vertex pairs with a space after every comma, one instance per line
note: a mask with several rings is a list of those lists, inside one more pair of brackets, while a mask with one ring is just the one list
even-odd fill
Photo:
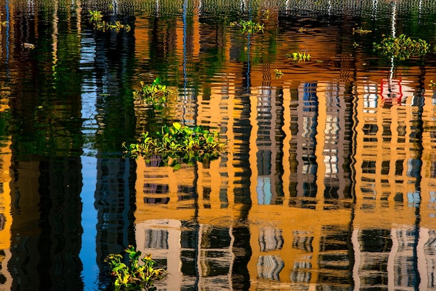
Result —
[[427, 54], [430, 45], [426, 40], [412, 40], [401, 34], [398, 38], [387, 37], [383, 38], [382, 42], [373, 42], [374, 49], [379, 50], [386, 56], [393, 56], [404, 60], [410, 56], [424, 56]]

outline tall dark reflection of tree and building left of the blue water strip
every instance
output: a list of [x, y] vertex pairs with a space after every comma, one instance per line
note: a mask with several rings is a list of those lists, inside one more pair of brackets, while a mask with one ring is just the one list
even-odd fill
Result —
[[[8, 29], [14, 31], [8, 42], [12, 289], [80, 288], [79, 9], [59, 1], [13, 2], [8, 2], [13, 13]], [[67, 23], [70, 31], [59, 29]], [[26, 49], [23, 42], [35, 48]]]

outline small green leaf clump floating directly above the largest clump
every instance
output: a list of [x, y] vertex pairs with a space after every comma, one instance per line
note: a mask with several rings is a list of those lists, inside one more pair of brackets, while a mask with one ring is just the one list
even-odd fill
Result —
[[173, 93], [170, 88], [161, 84], [161, 79], [157, 77], [152, 84], [145, 84], [141, 81], [141, 90], [133, 91], [135, 99], [141, 98], [142, 102], [149, 105], [163, 104], [166, 98]]

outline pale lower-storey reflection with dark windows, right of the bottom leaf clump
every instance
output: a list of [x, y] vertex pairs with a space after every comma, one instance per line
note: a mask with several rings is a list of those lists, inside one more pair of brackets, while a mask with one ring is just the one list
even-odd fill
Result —
[[166, 280], [156, 282], [158, 288], [231, 289], [238, 258], [232, 228], [200, 225], [189, 229], [183, 221], [149, 220], [137, 223], [136, 239], [138, 249], [151, 253], [169, 272]]

